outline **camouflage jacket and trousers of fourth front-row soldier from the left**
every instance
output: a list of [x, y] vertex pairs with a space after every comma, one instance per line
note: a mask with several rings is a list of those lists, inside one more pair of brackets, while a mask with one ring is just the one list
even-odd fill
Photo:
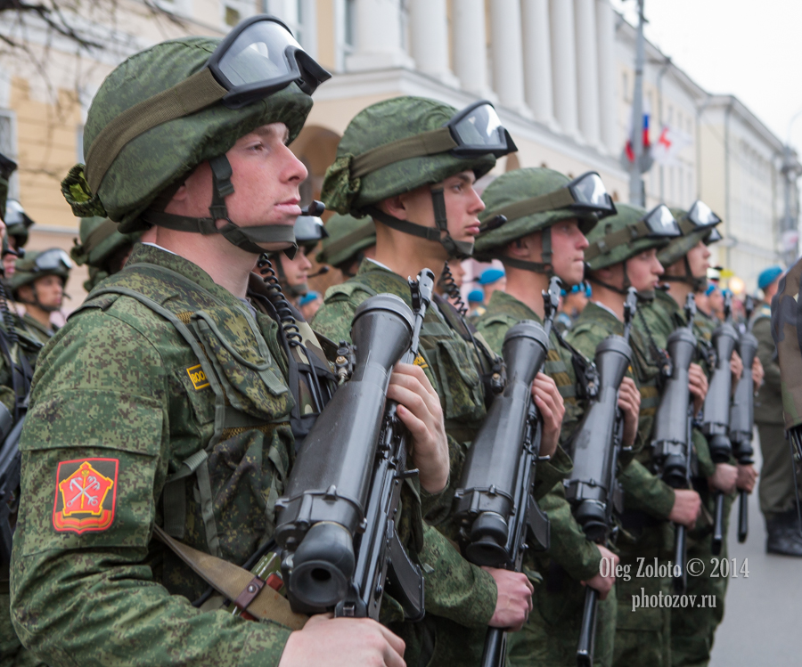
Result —
[[[611, 334], [620, 336], [623, 332], [623, 322], [592, 301], [585, 306], [567, 338], [582, 354], [591, 356], [604, 338]], [[637, 329], [632, 329], [629, 343], [634, 353], [634, 379], [641, 391], [639, 437], [641, 443], [649, 443], [658, 398], [652, 389], [659, 370], [651, 362], [649, 347]], [[635, 461], [643, 464], [649, 457], [650, 448], [645, 447], [636, 453]], [[648, 562], [658, 557], [663, 563], [671, 557], [674, 532], [667, 517], [674, 506], [674, 491], [661, 480], [657, 480], [652, 491], [648, 502], [634, 499], [626, 488], [624, 492], [624, 530], [618, 536], [617, 547], [621, 565], [630, 565], [633, 573], [637, 571], [638, 557], [645, 557]], [[660, 577], [632, 577], [629, 582], [618, 578], [613, 664], [622, 667], [633, 664], [668, 667], [671, 664], [670, 610], [651, 608], [633, 612], [632, 603], [633, 596], [640, 595], [641, 589], [647, 595], [658, 595], [660, 591], [666, 594], [670, 585], [669, 579]]]

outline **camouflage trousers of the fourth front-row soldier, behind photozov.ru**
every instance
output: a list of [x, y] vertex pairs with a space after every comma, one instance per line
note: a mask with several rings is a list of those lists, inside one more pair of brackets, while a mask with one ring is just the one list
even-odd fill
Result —
[[[653, 565], [653, 557], [644, 557], [647, 565]], [[667, 565], [667, 561], [660, 560]], [[634, 556], [621, 558], [621, 565], [630, 565], [632, 578], [625, 582], [616, 580], [618, 589], [618, 615], [616, 617], [616, 639], [613, 664], [620, 667], [649, 665], [669, 667], [671, 664], [671, 610], [659, 606], [645, 608], [641, 605], [633, 611], [633, 598], [666, 596], [671, 592], [671, 579], [659, 576], [636, 576], [638, 559]]]

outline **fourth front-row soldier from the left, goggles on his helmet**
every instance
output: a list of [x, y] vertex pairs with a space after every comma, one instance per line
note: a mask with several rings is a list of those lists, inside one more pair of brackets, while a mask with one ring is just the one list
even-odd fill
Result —
[[[668, 219], [664, 217], [667, 215]], [[665, 225], [665, 232], [655, 236], [645, 223], [657, 216], [655, 229]], [[590, 247], [585, 251], [593, 288], [593, 300], [585, 306], [570, 329], [569, 342], [583, 354], [593, 357], [596, 346], [610, 334], [621, 335], [624, 330], [623, 312], [626, 290], [634, 287], [643, 298], [650, 297], [663, 269], [656, 256], [664, 247], [667, 236], [675, 232], [675, 221], [665, 207], [647, 214], [641, 207], [618, 204], [618, 214], [606, 218], [588, 234]], [[641, 393], [639, 437], [641, 449], [636, 460], [643, 467], [651, 466], [651, 442], [654, 414], [659, 405], [659, 362], [651, 354], [649, 342], [637, 329], [632, 330], [630, 346], [634, 359], [632, 370]], [[692, 385], [692, 391], [700, 387]], [[671, 557], [673, 531], [671, 522], [692, 526], [700, 508], [699, 494], [690, 490], [674, 490], [658, 480], [656, 490], [647, 502], [624, 492], [622, 532], [618, 536], [621, 564], [631, 568], [631, 578], [619, 579], [616, 584], [618, 613], [614, 661], [616, 665], [650, 664], [668, 667], [671, 664], [669, 609], [649, 608], [633, 611], [633, 597], [642, 589], [647, 595], [668, 592], [670, 581], [659, 576], [634, 576], [638, 558], [652, 563], [654, 558], [667, 563]]]

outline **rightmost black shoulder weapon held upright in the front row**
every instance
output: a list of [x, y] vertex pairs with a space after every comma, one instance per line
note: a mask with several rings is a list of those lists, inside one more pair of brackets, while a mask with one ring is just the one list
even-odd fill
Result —
[[[755, 303], [752, 297], [746, 297], [744, 304], [747, 321], [752, 317]], [[730, 411], [730, 442], [732, 453], [741, 466], [749, 466], [755, 460], [752, 448], [752, 432], [755, 428], [755, 383], [752, 380], [752, 363], [757, 355], [757, 338], [750, 329], [741, 334], [738, 340], [738, 354], [743, 362], [743, 374], [735, 395], [732, 397]], [[740, 489], [738, 492], [738, 541], [745, 542], [749, 535], [749, 493]]]

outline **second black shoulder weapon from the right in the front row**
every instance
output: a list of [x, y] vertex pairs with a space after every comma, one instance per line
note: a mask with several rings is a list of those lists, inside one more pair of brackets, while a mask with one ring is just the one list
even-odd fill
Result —
[[[714, 463], [726, 463], [732, 456], [730, 443], [730, 396], [732, 395], [732, 374], [730, 358], [738, 343], [738, 332], [730, 323], [732, 294], [724, 297], [724, 322], [713, 331], [713, 351], [716, 366], [710, 376], [708, 395], [702, 412], [702, 433], [708, 438], [710, 458]], [[744, 373], [747, 370], [744, 368]], [[721, 553], [724, 543], [724, 492], [716, 491], [716, 511], [713, 523], [712, 552]]]

